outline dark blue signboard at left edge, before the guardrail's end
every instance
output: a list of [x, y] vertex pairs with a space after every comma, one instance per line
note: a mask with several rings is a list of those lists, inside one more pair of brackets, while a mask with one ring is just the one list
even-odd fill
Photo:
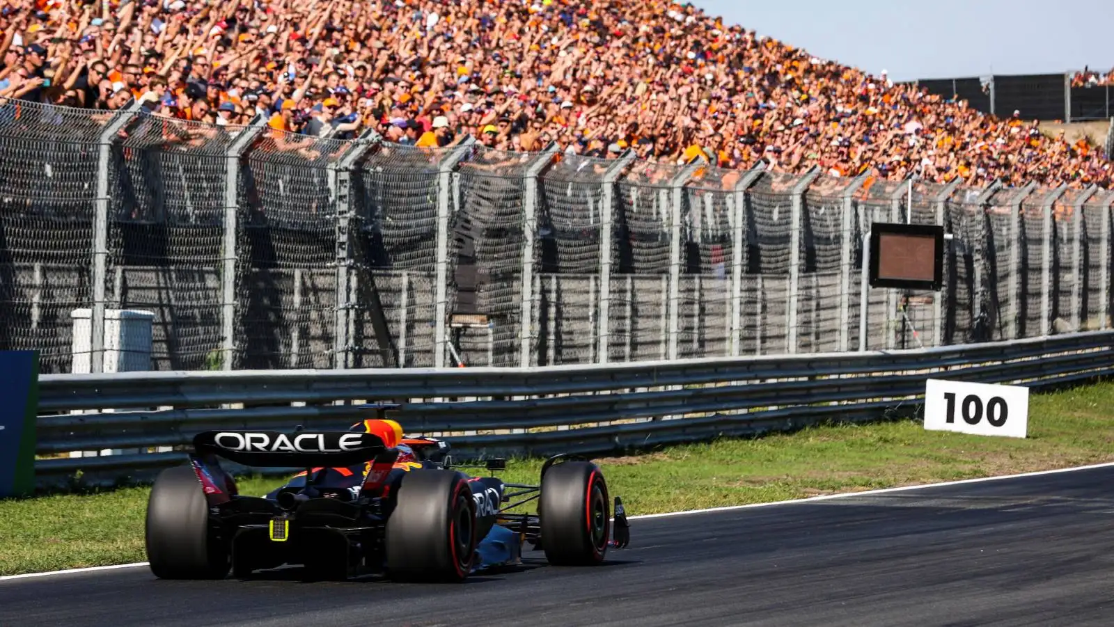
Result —
[[39, 353], [0, 351], [0, 498], [35, 491]]

